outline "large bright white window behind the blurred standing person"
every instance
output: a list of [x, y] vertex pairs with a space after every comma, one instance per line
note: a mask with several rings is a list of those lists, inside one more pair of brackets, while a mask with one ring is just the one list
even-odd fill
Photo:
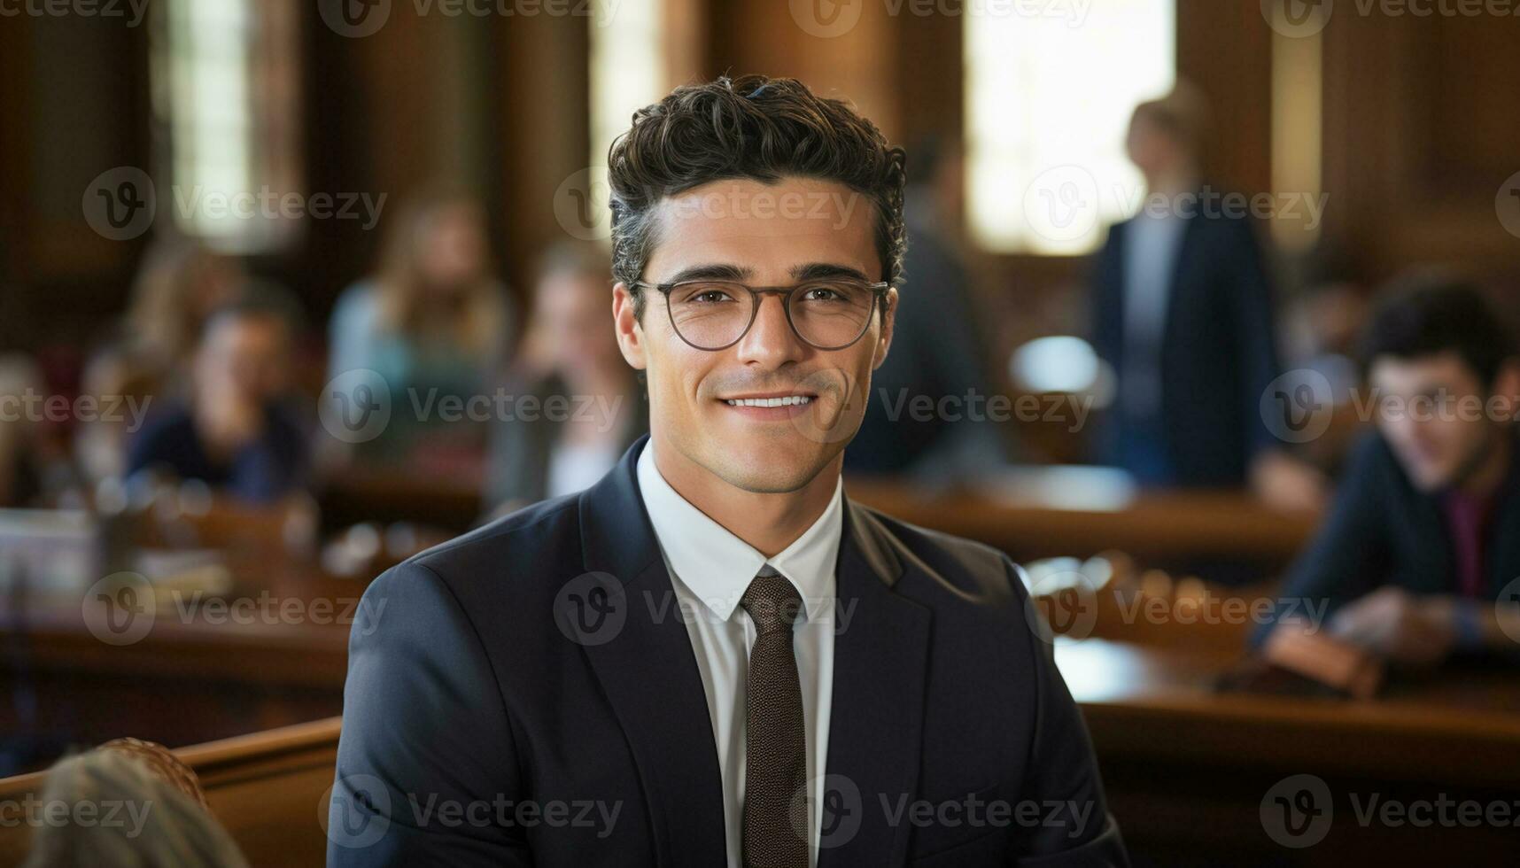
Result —
[[996, 252], [1085, 254], [1142, 201], [1125, 131], [1176, 81], [1176, 0], [1020, 8], [965, 17], [968, 225]]

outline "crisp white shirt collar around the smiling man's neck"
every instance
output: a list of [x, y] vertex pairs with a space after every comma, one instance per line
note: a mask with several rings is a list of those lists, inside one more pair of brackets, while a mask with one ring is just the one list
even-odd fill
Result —
[[783, 552], [766, 559], [681, 497], [655, 467], [654, 447], [651, 439], [638, 456], [638, 494], [673, 578], [690, 588], [708, 611], [728, 620], [760, 567], [771, 564], [803, 596], [807, 620], [821, 620], [834, 600], [834, 561], [844, 532], [844, 480], [834, 483], [834, 496], [822, 515]]

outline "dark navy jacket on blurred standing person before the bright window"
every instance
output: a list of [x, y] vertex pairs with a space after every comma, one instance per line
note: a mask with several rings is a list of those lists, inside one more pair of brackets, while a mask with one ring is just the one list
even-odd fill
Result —
[[[1132, 220], [1114, 225], [1093, 265], [1093, 345], [1125, 388], [1125, 245]], [[1249, 220], [1187, 217], [1161, 337], [1161, 420], [1181, 486], [1233, 488], [1271, 445], [1262, 392], [1277, 377], [1272, 298]], [[1114, 462], [1123, 424], [1099, 433], [1099, 461]]]

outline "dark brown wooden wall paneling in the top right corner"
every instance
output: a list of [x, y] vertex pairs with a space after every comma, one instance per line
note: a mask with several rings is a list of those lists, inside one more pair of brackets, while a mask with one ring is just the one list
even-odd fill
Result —
[[1520, 170], [1520, 26], [1335, 17], [1325, 27], [1325, 243], [1370, 281], [1444, 266], [1514, 284], [1496, 199]]

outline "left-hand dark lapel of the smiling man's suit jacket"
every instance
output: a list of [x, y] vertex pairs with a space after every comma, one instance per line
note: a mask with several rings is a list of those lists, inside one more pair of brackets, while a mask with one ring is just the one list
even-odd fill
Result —
[[657, 863], [710, 868], [727, 860], [722, 777], [702, 675], [638, 494], [646, 439], [581, 497], [585, 569], [617, 578], [611, 608], [626, 613], [585, 652], [638, 765]]

